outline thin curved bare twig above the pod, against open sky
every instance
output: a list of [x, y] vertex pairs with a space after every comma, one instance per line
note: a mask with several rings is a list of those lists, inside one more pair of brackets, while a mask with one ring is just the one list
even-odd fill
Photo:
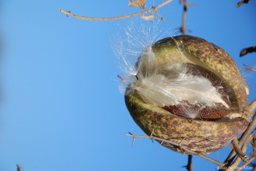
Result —
[[73, 14], [71, 14], [70, 11], [65, 11], [65, 10], [62, 10], [62, 9], [59, 9], [59, 11], [64, 13], [65, 15], [67, 15], [67, 17], [71, 16], [71, 17], [75, 17], [75, 18], [78, 18], [78, 19], [82, 19], [82, 20], [93, 20], [93, 21], [120, 20], [120, 19], [125, 19], [125, 18], [130, 18], [130, 17], [142, 15], [142, 14], [147, 14], [147, 13], [150, 13], [150, 12], [155, 12], [155, 11], [157, 11], [157, 9], [159, 9], [160, 7], [170, 3], [171, 1], [172, 0], [166, 0], [165, 2], [159, 4], [155, 7], [152, 7], [149, 10], [144, 10], [144, 11], [141, 11], [141, 12], [138, 12], [138, 13], [135, 13], [135, 14], [124, 15], [124, 16], [119, 16], [119, 17], [108, 17], [108, 18], [83, 17], [83, 16], [79, 16], [79, 15], [73, 15]]

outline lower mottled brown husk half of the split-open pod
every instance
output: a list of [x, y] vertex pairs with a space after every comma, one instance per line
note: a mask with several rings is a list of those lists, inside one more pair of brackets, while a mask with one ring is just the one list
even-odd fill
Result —
[[[211, 153], [227, 146], [247, 128], [247, 121], [241, 117], [223, 121], [200, 121], [176, 116], [157, 106], [150, 106], [136, 96], [125, 96], [125, 102], [133, 120], [150, 135], [180, 143], [200, 154]], [[163, 143], [173, 151], [181, 152], [180, 147]]]

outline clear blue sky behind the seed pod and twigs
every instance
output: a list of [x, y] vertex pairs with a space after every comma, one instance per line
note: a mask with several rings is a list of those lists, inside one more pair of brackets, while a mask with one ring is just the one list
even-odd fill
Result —
[[[163, 0], [157, 1], [156, 5]], [[191, 0], [188, 33], [219, 45], [231, 55], [256, 99], [256, 54], [240, 50], [256, 45], [256, 1]], [[110, 17], [139, 12], [129, 0], [6, 0], [0, 2], [0, 171], [185, 171], [187, 156], [158, 148], [128, 113], [118, 91], [117, 59], [110, 39], [133, 19], [86, 21], [76, 15]], [[153, 4], [147, 5], [151, 7]], [[178, 35], [182, 7], [174, 0], [159, 9], [161, 25]], [[134, 19], [140, 25], [141, 20]], [[143, 21], [143, 23], [146, 23]], [[224, 161], [229, 148], [209, 156]], [[250, 150], [249, 150], [250, 153]], [[248, 153], [248, 154], [249, 154]], [[217, 166], [193, 157], [195, 171]]]

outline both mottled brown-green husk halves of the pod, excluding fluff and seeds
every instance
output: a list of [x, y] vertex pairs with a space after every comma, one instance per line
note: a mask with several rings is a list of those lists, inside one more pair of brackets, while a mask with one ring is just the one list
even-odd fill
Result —
[[[229, 88], [232, 101], [231, 112], [238, 117], [225, 117], [218, 121], [202, 121], [177, 116], [159, 106], [146, 104], [136, 93], [125, 95], [125, 102], [133, 120], [150, 135], [180, 143], [197, 153], [211, 153], [227, 146], [247, 128], [247, 121], [239, 116], [248, 104], [248, 86], [235, 61], [219, 46], [198, 37], [179, 35], [157, 41], [153, 45], [160, 65], [169, 62], [188, 62], [200, 65], [217, 75]], [[186, 59], [179, 58], [185, 55]], [[182, 152], [180, 147], [163, 143], [173, 151]]]

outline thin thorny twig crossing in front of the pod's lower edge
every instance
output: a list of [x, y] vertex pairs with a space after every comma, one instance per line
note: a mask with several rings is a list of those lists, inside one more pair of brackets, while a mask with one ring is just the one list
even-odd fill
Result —
[[165, 139], [162, 139], [162, 138], [158, 138], [158, 137], [155, 137], [155, 136], [152, 136], [152, 135], [151, 136], [136, 136], [136, 135], [131, 135], [131, 134], [125, 134], [125, 135], [132, 136], [133, 138], [150, 138], [150, 139], [154, 139], [154, 140], [170, 143], [170, 144], [172, 144], [174, 146], [179, 146], [183, 151], [186, 151], [188, 154], [199, 156], [199, 157], [201, 157], [201, 158], [203, 158], [205, 160], [211, 161], [212, 163], [214, 163], [214, 164], [216, 164], [218, 166], [224, 166], [225, 165], [224, 163], [216, 161], [214, 159], [211, 159], [208, 156], [204, 156], [202, 154], [197, 154], [197, 152], [195, 152], [195, 151], [188, 150], [187, 148], [181, 146], [180, 143], [172, 142], [172, 141], [165, 140]]

